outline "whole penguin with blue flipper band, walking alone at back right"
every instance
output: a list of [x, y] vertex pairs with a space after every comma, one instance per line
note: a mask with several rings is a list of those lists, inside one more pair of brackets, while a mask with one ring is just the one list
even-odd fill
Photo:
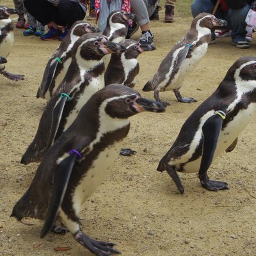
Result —
[[[154, 90], [154, 97], [159, 102], [159, 92], [173, 90], [179, 102], [196, 102], [191, 97], [182, 97], [179, 89], [184, 79], [192, 72], [205, 56], [211, 40], [211, 29], [227, 26], [225, 20], [216, 19], [210, 13], [200, 13], [191, 23], [186, 35], [175, 44], [159, 65], [154, 76], [145, 84], [143, 92]], [[164, 106], [170, 105], [162, 102]]]

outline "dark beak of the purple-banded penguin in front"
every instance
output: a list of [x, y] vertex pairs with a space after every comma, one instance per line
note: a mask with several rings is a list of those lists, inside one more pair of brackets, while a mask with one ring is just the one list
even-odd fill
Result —
[[149, 111], [160, 113], [165, 111], [163, 104], [161, 104], [160, 102], [148, 100], [141, 97], [138, 97], [138, 99], [135, 100], [132, 106], [138, 112]]

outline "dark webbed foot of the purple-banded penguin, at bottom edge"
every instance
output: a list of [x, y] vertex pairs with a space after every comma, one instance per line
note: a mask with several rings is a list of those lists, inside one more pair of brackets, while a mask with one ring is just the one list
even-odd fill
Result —
[[90, 252], [97, 256], [111, 256], [120, 254], [113, 248], [115, 244], [93, 240], [91, 237], [86, 236], [81, 230], [74, 235], [76, 241], [86, 247]]

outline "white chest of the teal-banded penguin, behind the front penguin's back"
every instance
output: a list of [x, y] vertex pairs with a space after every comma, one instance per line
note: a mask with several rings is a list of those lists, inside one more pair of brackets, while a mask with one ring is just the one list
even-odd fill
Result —
[[74, 86], [74, 88], [77, 90], [77, 93], [74, 96], [75, 99], [73, 98], [72, 100], [76, 100], [76, 105], [68, 113], [68, 116], [66, 118], [66, 124], [63, 131], [66, 131], [67, 128], [72, 124], [72, 122], [74, 122], [80, 109], [83, 108], [84, 104], [86, 104], [88, 99], [92, 97], [93, 93], [98, 92], [100, 89], [104, 87], [104, 77], [102, 75], [98, 77], [93, 77], [90, 83], [84, 86], [83, 90], [81, 90], [83, 83], [84, 80], [82, 80], [79, 84]]

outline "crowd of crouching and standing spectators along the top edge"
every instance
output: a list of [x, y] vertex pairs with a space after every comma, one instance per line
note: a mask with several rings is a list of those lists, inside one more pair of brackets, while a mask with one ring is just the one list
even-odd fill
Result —
[[[160, 0], [91, 0], [88, 20], [97, 19], [97, 26], [103, 31], [109, 13], [113, 10], [127, 10], [134, 13], [136, 19], [127, 33], [127, 38], [140, 28], [141, 44], [154, 44], [154, 35], [150, 22], [159, 20]], [[40, 36], [42, 40], [62, 40], [68, 29], [77, 20], [86, 15], [86, 0], [13, 0], [19, 18], [16, 28], [26, 29], [23, 34]], [[218, 2], [218, 3], [217, 3]], [[164, 1], [164, 22], [172, 23], [176, 0]], [[256, 10], [253, 0], [194, 0], [191, 13], [196, 17], [201, 12], [213, 13], [217, 18], [225, 19], [228, 26], [223, 31], [212, 31], [212, 40], [230, 36], [231, 43], [241, 49], [250, 47], [253, 28], [246, 24], [248, 11]], [[25, 19], [27, 17], [27, 21]], [[48, 28], [45, 31], [45, 28]]]

